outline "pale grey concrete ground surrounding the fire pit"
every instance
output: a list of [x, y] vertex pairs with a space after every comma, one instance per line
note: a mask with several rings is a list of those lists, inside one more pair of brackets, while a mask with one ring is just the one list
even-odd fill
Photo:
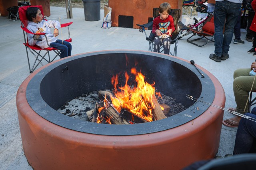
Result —
[[[148, 42], [143, 33], [138, 29], [117, 28], [102, 29], [102, 20], [88, 22], [84, 20], [84, 9], [73, 8], [73, 19], [66, 19], [66, 9], [50, 7], [49, 20], [58, 20], [61, 23], [74, 22], [70, 26], [72, 36], [72, 54], [89, 51], [134, 49], [148, 50]], [[101, 10], [101, 18], [104, 11]], [[182, 22], [188, 24], [189, 18], [183, 16]], [[144, 24], [144, 23], [138, 23]], [[149, 33], [149, 31], [148, 31]], [[64, 29], [62, 34], [65, 36]], [[246, 32], [242, 32], [241, 38], [245, 40]], [[65, 37], [63, 37], [65, 38]], [[178, 57], [193, 59], [196, 64], [210, 71], [222, 84], [226, 95], [226, 108], [236, 107], [232, 82], [233, 72], [238, 68], [250, 67], [255, 60], [252, 54], [246, 53], [252, 42], [243, 45], [230, 44], [230, 58], [217, 63], [209, 59], [209, 54], [214, 53], [214, 43], [210, 42], [204, 47], [197, 47], [186, 42], [187, 37], [179, 40]], [[20, 21], [9, 21], [6, 17], [0, 17], [0, 169], [32, 169], [26, 160], [22, 149], [18, 116], [16, 111], [16, 92], [24, 79], [30, 75], [23, 33], [20, 29]], [[233, 117], [224, 112], [224, 119]], [[217, 155], [232, 154], [237, 128], [229, 128], [222, 125], [220, 147]]]

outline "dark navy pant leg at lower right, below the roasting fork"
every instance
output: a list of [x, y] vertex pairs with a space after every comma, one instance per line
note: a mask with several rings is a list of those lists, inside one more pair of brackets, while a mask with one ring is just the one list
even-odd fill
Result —
[[[256, 115], [252, 113], [244, 114], [256, 119]], [[233, 154], [249, 153], [256, 138], [256, 122], [242, 118], [236, 132], [236, 141]]]

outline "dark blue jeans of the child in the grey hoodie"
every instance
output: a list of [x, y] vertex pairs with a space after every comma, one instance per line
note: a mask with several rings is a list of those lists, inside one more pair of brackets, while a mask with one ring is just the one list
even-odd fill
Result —
[[50, 43], [50, 47], [54, 47], [60, 50], [60, 58], [68, 57], [71, 55], [72, 45], [69, 42], [57, 40], [56, 42]]

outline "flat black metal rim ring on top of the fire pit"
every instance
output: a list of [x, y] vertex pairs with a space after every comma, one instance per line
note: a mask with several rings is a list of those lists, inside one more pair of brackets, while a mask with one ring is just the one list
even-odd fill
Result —
[[[75, 55], [73, 57], [68, 57], [66, 59], [60, 60], [56, 63], [52, 63], [51, 65], [48, 65], [48, 67], [45, 67], [28, 83], [27, 89], [26, 89], [26, 98], [30, 105], [30, 107], [42, 118], [46, 119], [47, 121], [50, 121], [51, 123], [54, 123], [55, 125], [68, 128], [70, 130], [76, 130], [79, 132], [85, 132], [90, 134], [100, 134], [100, 135], [110, 135], [110, 136], [127, 136], [127, 135], [139, 135], [139, 134], [148, 134], [148, 133], [154, 133], [154, 132], [160, 132], [163, 130], [168, 130], [174, 127], [178, 127], [180, 125], [183, 125], [189, 121], [192, 121], [196, 117], [200, 116], [204, 111], [206, 111], [210, 106], [196, 102], [194, 105], [189, 107], [188, 109], [172, 116], [168, 117], [166, 119], [162, 119], [159, 121], [153, 121], [150, 123], [140, 123], [140, 124], [134, 124], [134, 125], [106, 125], [106, 124], [97, 124], [97, 123], [91, 123], [82, 121], [80, 119], [74, 119], [71, 117], [68, 117], [66, 115], [63, 115], [61, 113], [58, 113], [56, 110], [54, 110], [52, 107], [50, 107], [41, 97], [40, 95], [40, 82], [44, 78], [47, 73], [49, 73], [52, 69], [55, 67], [58, 67], [59, 65], [62, 65], [64, 63], [67, 63], [68, 61], [72, 61], [75, 59], [79, 59], [81, 57], [88, 57], [91, 55], [99, 55], [99, 54], [106, 54], [106, 53], [135, 53], [142, 55], [152, 55], [155, 57], [162, 57], [164, 59], [168, 59], [171, 61], [174, 61], [176, 63], [179, 63], [185, 67], [188, 67], [192, 72], [194, 72], [196, 75], [198, 75], [198, 78], [200, 79], [200, 82], [202, 83], [202, 93], [200, 95], [200, 99], [203, 99], [207, 103], [212, 103], [215, 97], [215, 88], [212, 80], [210, 77], [204, 73], [202, 70], [200, 70], [201, 73], [204, 74], [204, 78], [201, 78], [201, 75], [198, 73], [196, 68], [185, 61], [182, 61], [180, 59], [177, 59], [175, 57], [170, 57], [170, 55], [163, 55], [161, 53], [152, 53], [148, 51], [125, 51], [125, 50], [118, 50], [118, 51], [96, 51], [96, 52], [90, 52], [90, 53], [82, 53], [80, 55]], [[210, 92], [210, 94], [209, 94]], [[189, 94], [188, 94], [189, 95]], [[199, 108], [196, 109], [196, 108]]]

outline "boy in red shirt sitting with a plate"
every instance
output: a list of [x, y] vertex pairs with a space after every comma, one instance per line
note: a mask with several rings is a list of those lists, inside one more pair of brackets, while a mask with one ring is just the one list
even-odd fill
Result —
[[[174, 22], [172, 16], [169, 15], [171, 6], [169, 3], [164, 2], [159, 6], [160, 16], [153, 20], [152, 33], [154, 34], [154, 52], [160, 53], [160, 47], [163, 45], [164, 53], [169, 54], [170, 43], [172, 41], [172, 32], [174, 32]], [[166, 34], [167, 38], [162, 37], [162, 34]]]

